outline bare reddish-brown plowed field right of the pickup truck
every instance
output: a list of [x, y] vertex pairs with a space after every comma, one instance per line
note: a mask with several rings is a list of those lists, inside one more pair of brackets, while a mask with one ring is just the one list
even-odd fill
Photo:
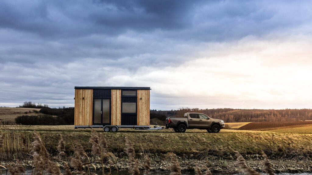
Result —
[[312, 124], [312, 121], [252, 122], [238, 128], [238, 130], [257, 130], [265, 128], [278, 128], [284, 126], [308, 125], [308, 124]]

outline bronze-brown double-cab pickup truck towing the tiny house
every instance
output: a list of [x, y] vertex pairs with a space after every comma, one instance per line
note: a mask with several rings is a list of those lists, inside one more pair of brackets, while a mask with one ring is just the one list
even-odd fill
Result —
[[224, 121], [213, 119], [202, 113], [188, 112], [184, 117], [166, 118], [166, 129], [173, 128], [175, 132], [185, 132], [186, 129], [202, 129], [209, 133], [218, 133], [224, 128]]

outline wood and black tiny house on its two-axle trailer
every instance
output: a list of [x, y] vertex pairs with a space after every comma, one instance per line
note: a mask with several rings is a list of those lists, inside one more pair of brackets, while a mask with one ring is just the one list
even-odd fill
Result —
[[75, 87], [75, 129], [162, 129], [149, 126], [150, 87]]

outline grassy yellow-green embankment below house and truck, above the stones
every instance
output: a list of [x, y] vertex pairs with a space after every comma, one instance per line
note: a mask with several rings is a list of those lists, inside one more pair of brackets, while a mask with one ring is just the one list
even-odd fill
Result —
[[[1, 148], [1, 159], [11, 160], [23, 158], [29, 153], [29, 145], [33, 141], [33, 132], [29, 130], [2, 130], [6, 139]], [[225, 132], [226, 131], [226, 132]], [[120, 130], [118, 132], [103, 132], [98, 130], [107, 140], [108, 149], [114, 154], [122, 154], [125, 148], [125, 137], [134, 146], [136, 153], [166, 154], [173, 152], [178, 156], [193, 159], [231, 159], [238, 151], [244, 155], [261, 154], [264, 151], [269, 158], [312, 158], [312, 134], [273, 133], [262, 131], [207, 133], [203, 130], [175, 133], [164, 131], [134, 131]], [[91, 151], [89, 142], [91, 131], [36, 131], [41, 135], [42, 142], [51, 155], [57, 154], [57, 144], [60, 135], [64, 138], [66, 153], [72, 154], [76, 142], [80, 143], [87, 153]], [[26, 147], [22, 146], [21, 135], [26, 137]], [[191, 156], [192, 155], [192, 156]]]

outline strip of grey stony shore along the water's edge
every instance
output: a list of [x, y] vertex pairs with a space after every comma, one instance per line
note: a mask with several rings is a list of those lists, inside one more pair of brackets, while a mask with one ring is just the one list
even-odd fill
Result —
[[[192, 158], [183, 158], [177, 157], [182, 171], [194, 171], [195, 166], [202, 165], [207, 166], [212, 173], [241, 173], [240, 169], [235, 165], [236, 159], [217, 159], [207, 158], [205, 160], [197, 160]], [[246, 163], [249, 167], [253, 168], [257, 172], [264, 172], [262, 167], [262, 156], [261, 155], [246, 155], [245, 156]], [[143, 159], [139, 159], [141, 163], [141, 169], [143, 170]], [[277, 159], [270, 160], [271, 164], [274, 168], [275, 173], [311, 173], [312, 172], [312, 161], [309, 159], [301, 159], [301, 160], [290, 160], [290, 159]], [[55, 161], [58, 166], [63, 167], [63, 162]], [[7, 164], [11, 164], [12, 162], [1, 162], [1, 165], [6, 166]], [[15, 163], [15, 161], [13, 161]], [[22, 161], [22, 165], [26, 168], [32, 167], [32, 161]], [[101, 168], [101, 165], [98, 163], [93, 163], [96, 168]], [[151, 156], [151, 171], [168, 171], [167, 167], [170, 165], [168, 161], [166, 161], [163, 156]], [[116, 163], [107, 164], [105, 163], [105, 169], [108, 170], [111, 167], [112, 170], [127, 170], [129, 167], [129, 162], [126, 158], [118, 158]], [[87, 168], [83, 166], [83, 168]], [[90, 166], [89, 168], [93, 168]]]

